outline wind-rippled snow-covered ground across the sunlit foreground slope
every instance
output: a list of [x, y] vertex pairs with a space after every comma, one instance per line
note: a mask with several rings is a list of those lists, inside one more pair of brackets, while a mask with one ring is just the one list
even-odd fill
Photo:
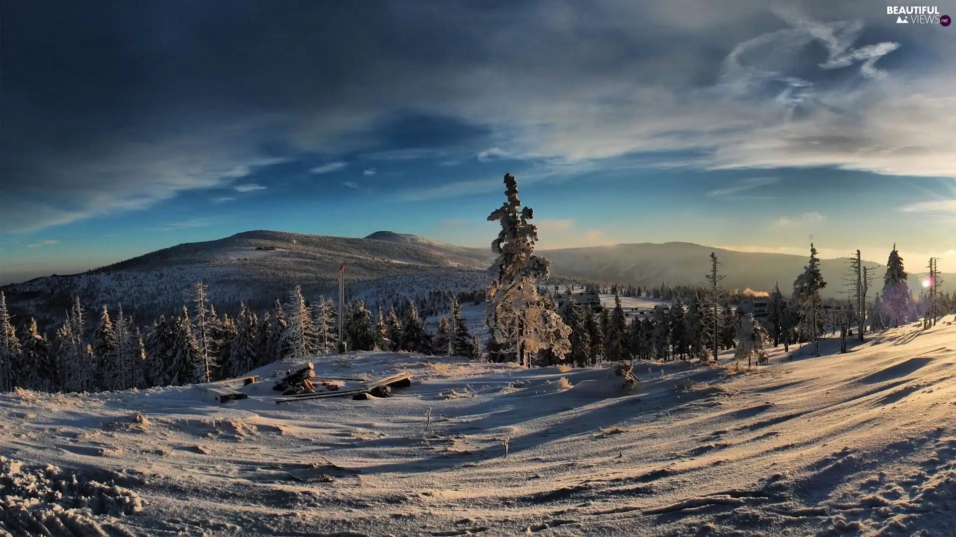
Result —
[[108, 535], [956, 534], [956, 326], [838, 344], [781, 348], [750, 372], [641, 362], [630, 393], [610, 368], [359, 353], [316, 357], [316, 373], [414, 384], [284, 405], [265, 382], [244, 389], [266, 396], [222, 405], [195, 387], [5, 394], [0, 455], [23, 465], [0, 461], [0, 521]]

